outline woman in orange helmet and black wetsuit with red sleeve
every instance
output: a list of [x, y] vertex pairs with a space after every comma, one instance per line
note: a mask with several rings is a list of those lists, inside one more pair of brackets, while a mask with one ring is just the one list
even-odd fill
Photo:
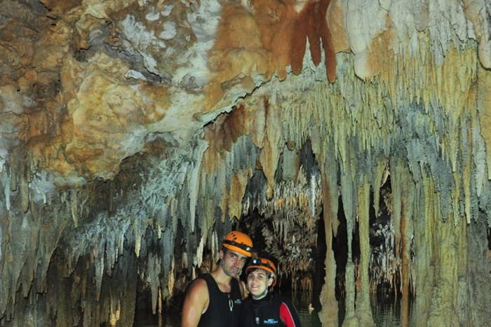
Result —
[[278, 276], [271, 260], [252, 260], [245, 274], [250, 295], [242, 303], [240, 327], [301, 326], [291, 300], [269, 291], [269, 288], [272, 291]]

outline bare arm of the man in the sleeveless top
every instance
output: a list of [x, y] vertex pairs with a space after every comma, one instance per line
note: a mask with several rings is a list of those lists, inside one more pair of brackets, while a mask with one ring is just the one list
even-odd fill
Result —
[[182, 306], [181, 327], [198, 326], [201, 314], [208, 309], [208, 286], [204, 279], [196, 279], [187, 291]]

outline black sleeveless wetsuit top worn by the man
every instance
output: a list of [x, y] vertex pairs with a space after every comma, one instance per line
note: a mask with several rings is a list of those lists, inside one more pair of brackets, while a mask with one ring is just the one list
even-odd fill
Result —
[[241, 288], [236, 279], [230, 281], [230, 293], [222, 293], [217, 282], [210, 274], [203, 274], [198, 278], [206, 281], [208, 286], [208, 308], [201, 315], [198, 327], [237, 327], [241, 313]]

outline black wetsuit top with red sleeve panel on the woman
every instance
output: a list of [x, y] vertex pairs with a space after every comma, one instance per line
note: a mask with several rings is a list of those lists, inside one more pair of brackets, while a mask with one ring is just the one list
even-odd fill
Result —
[[251, 296], [243, 300], [240, 327], [301, 327], [297, 310], [289, 298], [268, 294], [260, 300]]

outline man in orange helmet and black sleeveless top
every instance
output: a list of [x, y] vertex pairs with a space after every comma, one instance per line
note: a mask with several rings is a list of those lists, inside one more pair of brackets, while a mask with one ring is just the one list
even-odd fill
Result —
[[242, 232], [225, 236], [217, 269], [195, 279], [184, 299], [181, 327], [236, 327], [243, 299], [238, 276], [253, 254], [253, 241]]

